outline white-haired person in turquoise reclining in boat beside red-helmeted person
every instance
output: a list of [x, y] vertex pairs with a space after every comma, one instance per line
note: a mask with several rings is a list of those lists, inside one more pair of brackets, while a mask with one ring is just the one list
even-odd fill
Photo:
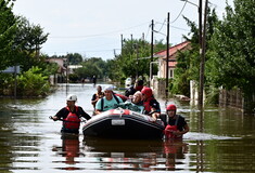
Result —
[[132, 111], [143, 114], [144, 106], [143, 106], [143, 102], [142, 102], [142, 93], [140, 91], [137, 91], [133, 94], [131, 101], [126, 101], [125, 103], [119, 104], [118, 106], [124, 109], [129, 109]]

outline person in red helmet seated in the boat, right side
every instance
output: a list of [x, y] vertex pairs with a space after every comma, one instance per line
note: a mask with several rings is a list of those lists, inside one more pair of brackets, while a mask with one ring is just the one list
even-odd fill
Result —
[[160, 103], [154, 98], [152, 94], [152, 89], [144, 86], [141, 93], [144, 106], [144, 114], [152, 116], [152, 118], [156, 121], [156, 119], [161, 115]]

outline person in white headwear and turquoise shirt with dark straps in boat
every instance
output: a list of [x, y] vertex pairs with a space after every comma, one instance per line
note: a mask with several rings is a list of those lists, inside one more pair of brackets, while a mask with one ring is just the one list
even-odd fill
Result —
[[118, 104], [123, 103], [123, 99], [113, 94], [113, 88], [109, 86], [104, 90], [104, 97], [100, 98], [95, 104], [95, 115], [101, 114], [102, 111], [106, 111], [110, 109], [115, 109], [118, 107]]

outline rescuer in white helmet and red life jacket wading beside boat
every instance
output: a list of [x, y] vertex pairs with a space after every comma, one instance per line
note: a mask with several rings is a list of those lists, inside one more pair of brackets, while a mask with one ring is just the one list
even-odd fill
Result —
[[79, 133], [80, 118], [89, 120], [91, 117], [85, 112], [80, 106], [76, 106], [77, 96], [71, 94], [66, 97], [66, 107], [63, 107], [52, 117], [54, 121], [63, 120], [61, 132], [63, 133]]

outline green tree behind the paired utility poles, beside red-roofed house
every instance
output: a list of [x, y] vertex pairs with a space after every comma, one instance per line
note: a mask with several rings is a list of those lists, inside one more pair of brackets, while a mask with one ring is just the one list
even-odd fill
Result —
[[[208, 9], [207, 12], [207, 35], [206, 40], [211, 40], [212, 36], [215, 32], [215, 26], [218, 22], [218, 17], [216, 15], [215, 9], [211, 10]], [[187, 25], [190, 27], [190, 32], [188, 36], [191, 36], [189, 38], [188, 36], [184, 36], [184, 39], [191, 42], [190, 46], [191, 49], [179, 53], [177, 56], [177, 68], [175, 69], [175, 79], [173, 81], [171, 85], [171, 93], [176, 94], [183, 94], [183, 95], [190, 95], [189, 89], [190, 89], [190, 80], [197, 81], [200, 79], [200, 44], [199, 44], [199, 28], [195, 22], [191, 22], [189, 18], [184, 17], [187, 21]], [[209, 50], [209, 45], [206, 45], [206, 50]], [[206, 54], [206, 62], [209, 59], [209, 54]], [[206, 63], [207, 64], [207, 63]], [[207, 72], [206, 68], [206, 74]], [[207, 82], [207, 76], [205, 76], [205, 85], [208, 85]], [[206, 88], [207, 89], [207, 88]]]

